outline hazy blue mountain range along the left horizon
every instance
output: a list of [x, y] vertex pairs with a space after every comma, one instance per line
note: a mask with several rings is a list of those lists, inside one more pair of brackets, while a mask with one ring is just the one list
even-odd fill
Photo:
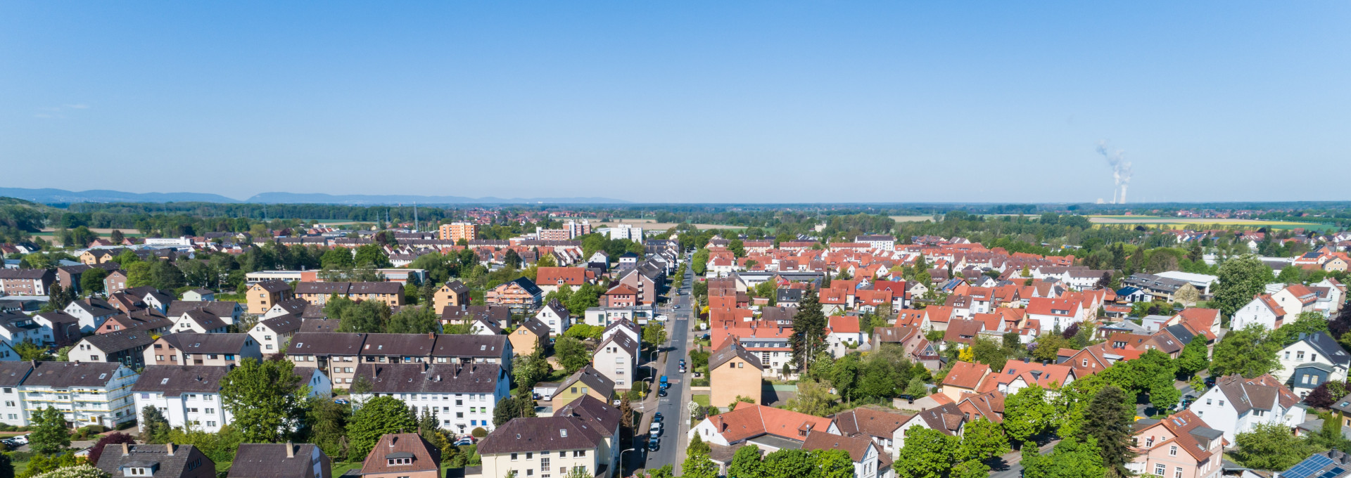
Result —
[[28, 189], [0, 188], [0, 196], [16, 197], [34, 203], [265, 203], [265, 204], [621, 204], [628, 203], [609, 197], [463, 197], [463, 196], [412, 196], [412, 194], [323, 194], [323, 193], [261, 193], [247, 200], [236, 200], [207, 193], [126, 193], [120, 190], [92, 189]]

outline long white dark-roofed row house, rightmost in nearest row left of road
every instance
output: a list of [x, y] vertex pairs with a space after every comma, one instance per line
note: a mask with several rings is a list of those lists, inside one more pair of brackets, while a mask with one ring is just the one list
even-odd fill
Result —
[[353, 394], [359, 404], [372, 397], [396, 397], [415, 413], [435, 413], [440, 428], [466, 435], [493, 429], [497, 401], [511, 396], [511, 377], [497, 363], [363, 363], [357, 377], [370, 393]]

